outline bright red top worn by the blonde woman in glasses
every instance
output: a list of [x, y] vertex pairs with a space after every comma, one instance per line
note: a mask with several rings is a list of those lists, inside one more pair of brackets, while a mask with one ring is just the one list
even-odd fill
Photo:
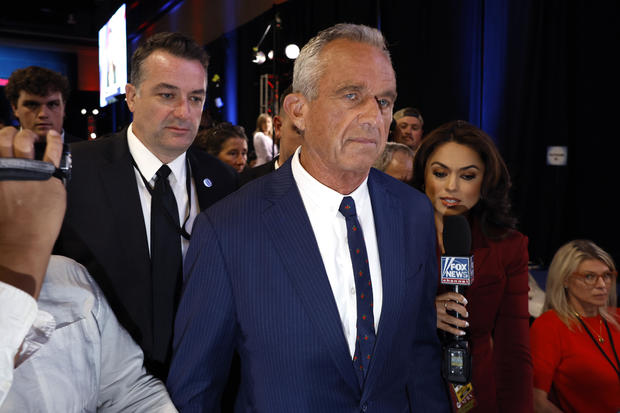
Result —
[[[620, 314], [618, 309], [615, 311]], [[584, 317], [595, 338], [598, 338], [599, 320], [599, 316]], [[616, 413], [620, 411], [620, 379], [588, 333], [577, 325], [569, 330], [553, 310], [534, 321], [531, 329], [534, 387], [549, 393], [553, 385], [555, 403], [564, 412]], [[609, 329], [620, 357], [620, 331], [611, 324]], [[605, 339], [601, 348], [616, 364], [605, 325], [600, 334]]]

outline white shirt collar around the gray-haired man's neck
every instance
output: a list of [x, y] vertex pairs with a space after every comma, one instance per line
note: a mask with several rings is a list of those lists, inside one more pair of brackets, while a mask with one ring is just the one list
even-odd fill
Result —
[[[316, 178], [308, 173], [301, 165], [299, 161], [299, 153], [301, 152], [301, 146], [297, 148], [293, 154], [291, 160], [291, 169], [293, 172], [293, 178], [297, 183], [299, 191], [303, 194], [304, 200], [311, 203], [311, 207], [318, 208], [329, 214], [337, 214], [342, 198], [350, 196], [355, 201], [356, 209], [358, 210], [362, 205], [366, 205], [369, 200], [368, 195], [368, 177], [358, 186], [353, 192], [348, 195], [343, 195], [326, 185], [323, 185]], [[308, 207], [308, 205], [307, 205]]]

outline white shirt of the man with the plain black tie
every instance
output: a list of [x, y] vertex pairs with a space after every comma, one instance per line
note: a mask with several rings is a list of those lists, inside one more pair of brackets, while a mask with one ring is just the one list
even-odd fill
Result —
[[[136, 181], [138, 182], [138, 193], [140, 195], [140, 203], [142, 204], [142, 215], [144, 216], [144, 227], [146, 228], [146, 239], [149, 245], [149, 251], [151, 250], [151, 194], [144, 185], [144, 181], [140, 177], [140, 173], [149, 182], [151, 188], [155, 185], [155, 173], [161, 168], [163, 162], [160, 161], [146, 146], [137, 138], [133, 133], [132, 125], [127, 128], [127, 144], [129, 145], [129, 153], [133, 156], [136, 165], [138, 165], [139, 171], [134, 167], [136, 174]], [[174, 197], [177, 200], [177, 209], [179, 211], [179, 222], [183, 225], [185, 218], [187, 217], [188, 210], [188, 196], [187, 196], [187, 162], [185, 161], [186, 153], [183, 152], [178, 158], [168, 163], [172, 173], [168, 176], [170, 187], [174, 193]], [[192, 226], [194, 225], [194, 219], [200, 212], [200, 205], [198, 204], [198, 196], [196, 195], [196, 184], [194, 178], [191, 180], [191, 195], [192, 195], [192, 208], [189, 214], [187, 224], [185, 224], [185, 230], [191, 234]], [[179, 237], [181, 237], [179, 235]], [[189, 241], [181, 237], [181, 253], [185, 258], [185, 253], [189, 247]]]

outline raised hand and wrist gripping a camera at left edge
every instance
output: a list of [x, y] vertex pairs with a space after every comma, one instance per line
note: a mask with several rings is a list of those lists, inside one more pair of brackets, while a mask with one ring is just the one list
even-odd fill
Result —
[[[36, 140], [37, 135], [27, 129], [0, 129], [0, 157], [33, 159]], [[43, 160], [58, 167], [61, 156], [62, 137], [49, 131]], [[60, 232], [66, 204], [65, 187], [57, 178], [0, 181], [0, 266], [32, 277], [35, 298]]]

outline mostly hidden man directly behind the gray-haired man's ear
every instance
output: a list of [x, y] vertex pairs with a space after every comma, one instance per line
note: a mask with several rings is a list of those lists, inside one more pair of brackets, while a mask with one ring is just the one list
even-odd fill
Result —
[[276, 141], [280, 142], [280, 154], [266, 164], [255, 168], [245, 169], [239, 176], [239, 182], [244, 185], [253, 179], [273, 172], [288, 160], [295, 150], [301, 145], [302, 138], [299, 129], [284, 111], [284, 99], [293, 93], [292, 86], [287, 87], [280, 95], [280, 114], [273, 117], [273, 134]]

